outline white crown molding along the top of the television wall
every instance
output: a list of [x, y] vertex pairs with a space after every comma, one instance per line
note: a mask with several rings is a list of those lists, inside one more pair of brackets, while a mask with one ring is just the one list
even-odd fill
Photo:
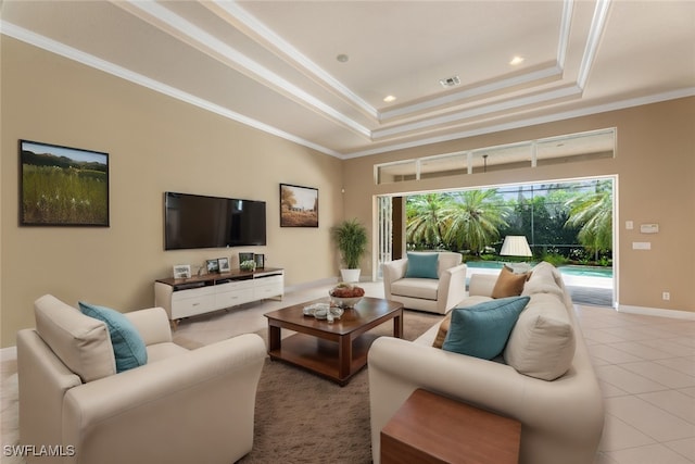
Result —
[[35, 34], [30, 30], [16, 26], [12, 23], [8, 23], [7, 21], [0, 20], [0, 30], [2, 35], [5, 35], [8, 37], [12, 37], [16, 40], [31, 45], [34, 47], [38, 47], [51, 53], [59, 54], [63, 58], [76, 61], [80, 64], [92, 67], [94, 70], [99, 70], [104, 73], [111, 74], [113, 76], [123, 78], [130, 83], [137, 84], [141, 87], [146, 87], [150, 90], [154, 90], [159, 93], [166, 95], [167, 97], [175, 98], [177, 100], [184, 101], [186, 103], [192, 104], [194, 106], [198, 106], [203, 110], [224, 116], [228, 120], [232, 120], [237, 123], [253, 127], [264, 133], [283, 138], [286, 140], [299, 143], [301, 146], [311, 148], [313, 150], [319, 151], [321, 153], [325, 153], [334, 158], [342, 158], [342, 154], [334, 150], [328, 149], [326, 147], [305, 140], [301, 137], [296, 137], [292, 134], [286, 133], [285, 130], [280, 130], [277, 127], [274, 127], [268, 124], [262, 123], [260, 121], [253, 120], [251, 117], [244, 116], [243, 114], [231, 111], [228, 108], [220, 106], [218, 104], [212, 103], [202, 98], [184, 92], [179, 89], [162, 84], [159, 80], [154, 80], [141, 74], [134, 73], [129, 70], [117, 66], [113, 63], [110, 63], [105, 60], [93, 57], [89, 53], [81, 52], [77, 49], [60, 43], [55, 40], [49, 39], [48, 37]]

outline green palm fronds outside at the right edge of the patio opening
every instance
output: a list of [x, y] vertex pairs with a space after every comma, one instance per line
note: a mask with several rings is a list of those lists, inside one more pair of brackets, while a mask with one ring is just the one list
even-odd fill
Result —
[[577, 238], [596, 254], [612, 249], [612, 183], [599, 180], [592, 192], [568, 202], [570, 208], [566, 225], [581, 227]]

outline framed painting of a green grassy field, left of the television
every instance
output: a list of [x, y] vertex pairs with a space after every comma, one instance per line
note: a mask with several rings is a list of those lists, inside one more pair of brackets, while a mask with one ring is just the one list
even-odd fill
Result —
[[20, 225], [109, 227], [109, 153], [20, 140]]

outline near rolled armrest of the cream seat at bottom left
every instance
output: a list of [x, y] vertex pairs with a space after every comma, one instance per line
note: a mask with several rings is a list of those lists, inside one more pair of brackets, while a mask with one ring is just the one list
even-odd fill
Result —
[[[253, 444], [263, 339], [241, 335], [71, 389], [70, 462], [235, 462]], [[67, 462], [67, 461], [66, 461]]]

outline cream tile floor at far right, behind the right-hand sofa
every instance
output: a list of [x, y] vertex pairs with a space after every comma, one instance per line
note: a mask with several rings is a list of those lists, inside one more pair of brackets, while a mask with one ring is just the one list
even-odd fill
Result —
[[595, 463], [695, 463], [695, 322], [577, 312], [606, 407]]

